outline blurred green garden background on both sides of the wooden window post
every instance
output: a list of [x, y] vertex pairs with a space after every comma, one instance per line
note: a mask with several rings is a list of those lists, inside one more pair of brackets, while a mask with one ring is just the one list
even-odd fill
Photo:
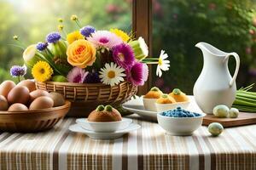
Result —
[[[256, 2], [253, 0], [152, 0], [153, 56], [165, 49], [170, 71], [155, 77], [154, 85], [165, 92], [181, 88], [192, 94], [203, 65], [196, 42], [209, 42], [241, 57], [237, 87], [256, 82]], [[131, 31], [132, 0], [0, 0], [0, 82], [12, 79], [11, 65], [23, 65], [22, 50], [15, 44], [18, 35], [25, 46], [44, 41], [57, 31], [58, 18], [65, 31], [78, 29], [70, 20], [77, 14], [82, 25], [97, 29], [117, 27]], [[230, 72], [235, 59], [230, 59]], [[153, 73], [155, 72], [155, 68]], [[218, 82], [216, 82], [218, 83]]]

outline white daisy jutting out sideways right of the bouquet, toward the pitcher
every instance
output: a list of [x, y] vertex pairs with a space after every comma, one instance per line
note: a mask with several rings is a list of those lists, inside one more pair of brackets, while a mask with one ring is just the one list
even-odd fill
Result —
[[162, 71], [168, 71], [170, 67], [170, 61], [167, 60], [168, 54], [165, 54], [164, 50], [161, 50], [160, 57], [158, 59], [158, 65], [156, 68], [156, 76], [161, 77]]

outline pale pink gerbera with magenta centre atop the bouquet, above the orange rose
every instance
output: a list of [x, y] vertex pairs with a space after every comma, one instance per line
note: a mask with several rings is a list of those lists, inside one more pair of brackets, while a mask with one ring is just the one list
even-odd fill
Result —
[[113, 48], [122, 43], [122, 39], [110, 31], [96, 31], [86, 39], [92, 42], [96, 48]]

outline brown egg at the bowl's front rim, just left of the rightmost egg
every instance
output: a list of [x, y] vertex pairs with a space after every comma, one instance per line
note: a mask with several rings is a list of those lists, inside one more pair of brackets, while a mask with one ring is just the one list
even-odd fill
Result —
[[29, 110], [47, 109], [54, 105], [54, 101], [48, 96], [41, 96], [32, 101]]

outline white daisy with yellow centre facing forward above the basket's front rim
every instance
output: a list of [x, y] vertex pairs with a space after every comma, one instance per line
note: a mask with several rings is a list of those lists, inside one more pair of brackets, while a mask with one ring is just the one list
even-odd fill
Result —
[[105, 64], [105, 67], [100, 71], [100, 78], [102, 83], [113, 86], [115, 84], [119, 84], [119, 82], [123, 82], [125, 77], [125, 73], [123, 73], [125, 69], [114, 64], [113, 62]]

